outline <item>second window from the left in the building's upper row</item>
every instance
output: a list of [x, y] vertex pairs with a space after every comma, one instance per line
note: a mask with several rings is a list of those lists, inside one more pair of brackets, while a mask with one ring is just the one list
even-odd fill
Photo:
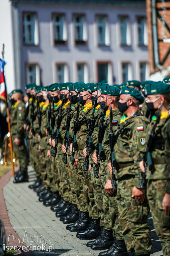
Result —
[[67, 41], [67, 31], [63, 14], [53, 15], [53, 29], [55, 44], [64, 44]]

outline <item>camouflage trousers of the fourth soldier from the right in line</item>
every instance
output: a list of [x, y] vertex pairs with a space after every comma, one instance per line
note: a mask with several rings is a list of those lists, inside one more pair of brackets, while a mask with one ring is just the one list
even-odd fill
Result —
[[105, 216], [103, 214], [103, 197], [101, 192], [100, 177], [97, 179], [94, 175], [94, 164], [91, 165], [90, 180], [93, 187], [94, 201], [100, 216], [100, 226], [104, 226]]

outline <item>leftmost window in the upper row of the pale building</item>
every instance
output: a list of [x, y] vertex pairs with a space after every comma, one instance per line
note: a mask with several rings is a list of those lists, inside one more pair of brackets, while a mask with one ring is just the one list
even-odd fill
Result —
[[38, 45], [38, 25], [36, 14], [24, 14], [24, 43]]

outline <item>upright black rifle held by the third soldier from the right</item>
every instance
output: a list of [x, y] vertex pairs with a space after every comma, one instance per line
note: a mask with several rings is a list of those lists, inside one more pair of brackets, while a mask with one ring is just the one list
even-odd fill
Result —
[[106, 96], [105, 107], [104, 107], [102, 118], [99, 124], [98, 143], [96, 146], [97, 164], [95, 164], [95, 167], [94, 167], [94, 175], [97, 179], [99, 178], [98, 173], [99, 173], [99, 167], [100, 167], [100, 157], [102, 157], [104, 154], [104, 151], [102, 148], [102, 141], [105, 133], [104, 118], [106, 116], [106, 110], [107, 110], [107, 99], [108, 99], [108, 95]]

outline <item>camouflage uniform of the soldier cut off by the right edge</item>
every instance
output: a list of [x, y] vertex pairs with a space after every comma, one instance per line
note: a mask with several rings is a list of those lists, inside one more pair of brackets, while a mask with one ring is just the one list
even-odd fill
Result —
[[[162, 113], [162, 112], [161, 112]], [[154, 117], [153, 117], [154, 118]], [[153, 127], [155, 121], [152, 121]], [[153, 168], [147, 171], [147, 199], [152, 212], [156, 233], [161, 241], [163, 255], [170, 255], [170, 217], [165, 214], [162, 200], [170, 194], [170, 116], [160, 117], [156, 127], [153, 150]], [[148, 133], [149, 134], [149, 133]]]

